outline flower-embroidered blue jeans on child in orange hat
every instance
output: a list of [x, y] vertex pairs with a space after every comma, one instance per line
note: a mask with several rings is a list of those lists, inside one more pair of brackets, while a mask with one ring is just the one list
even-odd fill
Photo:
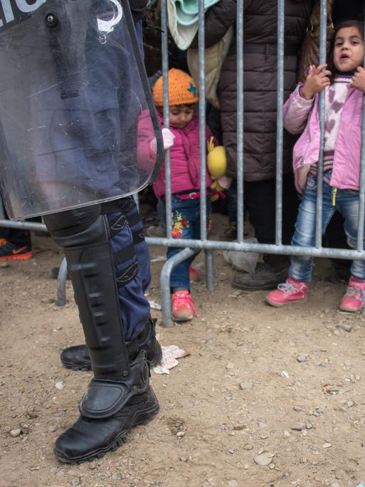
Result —
[[[160, 200], [161, 215], [164, 215], [162, 228], [166, 228], [166, 202]], [[200, 199], [177, 199], [171, 201], [171, 230], [174, 239], [200, 239]], [[211, 227], [211, 199], [206, 198], [206, 222], [207, 229]], [[167, 248], [166, 256], [171, 258], [181, 248]], [[170, 287], [190, 290], [189, 266], [196, 256], [187, 258], [179, 263], [171, 272]]]

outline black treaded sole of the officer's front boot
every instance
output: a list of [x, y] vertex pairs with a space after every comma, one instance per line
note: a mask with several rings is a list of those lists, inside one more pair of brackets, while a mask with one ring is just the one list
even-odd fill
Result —
[[[156, 399], [157, 401], [157, 399]], [[111, 444], [104, 446], [103, 448], [92, 451], [92, 453], [83, 455], [78, 459], [71, 459], [68, 456], [65, 456], [63, 452], [58, 451], [57, 449], [53, 449], [53, 453], [57, 457], [59, 461], [62, 461], [64, 464], [83, 464], [85, 461], [93, 461], [95, 459], [101, 459], [108, 451], [115, 451], [118, 449], [122, 444], [125, 444], [127, 441], [127, 434], [129, 431], [138, 425], [148, 424], [149, 421], [152, 421], [156, 414], [159, 412], [159, 403], [157, 402], [152, 407], [145, 409], [144, 411], [139, 411], [135, 414], [133, 421], [131, 422], [130, 426], [118, 434], [117, 438], [115, 438]]]

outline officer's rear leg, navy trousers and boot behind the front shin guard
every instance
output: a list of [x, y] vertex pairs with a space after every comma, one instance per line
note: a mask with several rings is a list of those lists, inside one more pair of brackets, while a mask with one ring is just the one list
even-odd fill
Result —
[[[134, 295], [133, 288], [135, 288], [136, 283], [137, 286], [142, 285], [142, 292], [144, 293], [151, 282], [149, 250], [144, 239], [142, 221], [133, 197], [122, 198], [117, 201], [102, 204], [101, 211], [107, 214], [112, 251], [115, 256], [122, 252], [124, 241], [118, 238], [118, 234], [123, 231], [123, 226], [126, 221], [132, 231], [134, 249], [137, 255], [138, 272], [134, 272], [132, 279], [128, 283], [125, 283], [124, 286], [118, 288], [122, 321], [129, 322], [130, 317], [124, 314], [130, 308], [130, 296]], [[130, 252], [130, 248], [127, 251]], [[136, 312], [138, 313], [138, 311], [137, 308]], [[132, 316], [135, 319], [135, 313], [132, 313]], [[156, 339], [155, 323], [156, 320], [149, 316], [144, 328], [137, 335], [139, 347], [144, 348], [147, 352], [147, 362], [150, 367], [156, 367], [162, 358], [161, 346]], [[60, 360], [63, 366], [68, 369], [91, 369], [90, 354], [86, 345], [75, 345], [74, 347], [66, 348], [61, 353]]]

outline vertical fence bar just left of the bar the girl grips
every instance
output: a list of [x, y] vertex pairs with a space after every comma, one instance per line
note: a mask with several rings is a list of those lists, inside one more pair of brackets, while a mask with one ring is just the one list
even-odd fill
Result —
[[282, 244], [282, 117], [284, 104], [284, 0], [277, 2], [277, 115], [276, 115], [276, 194], [275, 243]]

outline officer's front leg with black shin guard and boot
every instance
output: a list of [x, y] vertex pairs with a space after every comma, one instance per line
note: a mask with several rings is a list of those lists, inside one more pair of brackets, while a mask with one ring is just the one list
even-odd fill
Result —
[[58, 459], [81, 462], [120, 446], [132, 426], [149, 421], [159, 409], [149, 387], [146, 352], [136, 340], [149, 305], [139, 293], [136, 319], [122, 323], [117, 281], [126, 283], [137, 269], [127, 224], [119, 235], [125, 243], [129, 239], [131, 251], [118, 257], [116, 276], [109, 224], [100, 205], [48, 215], [44, 221], [65, 251], [94, 374], [78, 421], [55, 442]]

